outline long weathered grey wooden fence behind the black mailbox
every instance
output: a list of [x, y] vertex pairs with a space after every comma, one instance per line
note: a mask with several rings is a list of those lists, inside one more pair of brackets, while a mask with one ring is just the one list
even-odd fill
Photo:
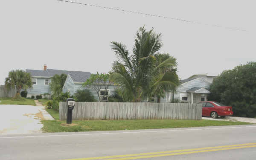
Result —
[[[59, 118], [67, 119], [67, 102]], [[202, 105], [188, 103], [76, 102], [73, 120], [89, 119], [202, 119]]]

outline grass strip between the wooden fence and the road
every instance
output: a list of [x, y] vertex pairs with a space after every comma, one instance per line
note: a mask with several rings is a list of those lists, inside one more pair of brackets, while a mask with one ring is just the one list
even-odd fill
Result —
[[141, 119], [141, 120], [82, 120], [72, 121], [71, 126], [65, 126], [66, 121], [58, 120], [58, 111], [47, 109], [57, 120], [42, 120], [44, 132], [79, 132], [79, 131], [115, 131], [132, 129], [159, 129], [204, 127], [221, 125], [248, 125], [247, 122], [213, 121], [213, 120], [176, 120], [176, 119]]

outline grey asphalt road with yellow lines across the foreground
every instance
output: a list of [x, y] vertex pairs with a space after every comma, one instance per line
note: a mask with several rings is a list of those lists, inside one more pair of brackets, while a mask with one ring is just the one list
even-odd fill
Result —
[[256, 160], [256, 125], [0, 136], [0, 160], [78, 158]]

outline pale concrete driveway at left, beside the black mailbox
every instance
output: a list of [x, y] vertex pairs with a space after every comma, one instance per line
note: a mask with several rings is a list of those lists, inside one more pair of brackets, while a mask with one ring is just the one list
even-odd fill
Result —
[[0, 135], [41, 133], [41, 119], [53, 119], [44, 106], [0, 105]]

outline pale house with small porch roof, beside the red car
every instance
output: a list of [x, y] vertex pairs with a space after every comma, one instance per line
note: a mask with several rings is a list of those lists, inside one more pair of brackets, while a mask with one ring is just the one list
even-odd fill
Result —
[[[212, 76], [210, 76], [212, 77]], [[209, 79], [208, 79], [209, 80]], [[210, 80], [209, 80], [210, 81]], [[172, 99], [179, 99], [181, 102], [198, 103], [200, 101], [207, 101], [207, 95], [210, 91], [210, 82], [204, 77], [197, 77], [180, 80], [180, 85], [173, 94], [171, 91], [166, 92], [166, 95], [161, 97], [160, 102], [172, 102]], [[153, 101], [156, 97], [152, 97]]]

